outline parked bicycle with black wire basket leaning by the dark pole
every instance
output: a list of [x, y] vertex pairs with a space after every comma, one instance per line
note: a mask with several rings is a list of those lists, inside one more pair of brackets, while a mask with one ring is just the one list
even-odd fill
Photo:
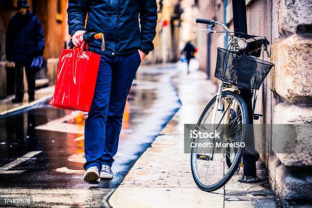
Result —
[[[221, 132], [221, 139], [209, 138], [207, 141], [213, 147], [194, 146], [191, 149], [191, 169], [196, 185], [203, 191], [211, 192], [223, 187], [233, 174], [240, 169], [243, 145], [218, 146], [218, 142], [226, 144], [243, 144], [248, 136], [249, 116], [247, 105], [240, 95], [240, 89], [249, 89], [252, 92], [252, 113], [254, 113], [257, 99], [256, 90], [259, 89], [265, 77], [274, 64], [257, 59], [262, 48], [269, 53], [267, 46], [270, 42], [266, 37], [231, 32], [225, 24], [215, 20], [196, 19], [196, 23], [207, 24], [207, 29], [198, 29], [205, 33], [226, 33], [229, 45], [226, 49], [217, 48], [217, 64], [215, 77], [222, 83], [218, 92], [204, 107], [196, 129]], [[221, 26], [224, 31], [214, 31], [215, 25]], [[242, 34], [244, 37], [235, 37]], [[250, 100], [250, 101], [252, 101]], [[248, 103], [249, 104], [249, 103]], [[253, 114], [258, 119], [260, 114]], [[194, 138], [192, 142], [203, 142], [201, 138]], [[216, 173], [216, 174], [214, 174]]]

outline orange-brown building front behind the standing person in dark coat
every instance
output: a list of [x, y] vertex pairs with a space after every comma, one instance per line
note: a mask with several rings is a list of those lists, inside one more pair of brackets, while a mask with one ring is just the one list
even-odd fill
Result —
[[[17, 0], [0, 3], [0, 98], [14, 94], [14, 64], [8, 63], [5, 57], [5, 36], [9, 19], [17, 13], [16, 3]], [[54, 85], [61, 49], [70, 39], [66, 13], [68, 0], [29, 0], [28, 3], [30, 10], [40, 19], [45, 38], [46, 66], [37, 74], [37, 79], [44, 82], [37, 80], [37, 84]]]

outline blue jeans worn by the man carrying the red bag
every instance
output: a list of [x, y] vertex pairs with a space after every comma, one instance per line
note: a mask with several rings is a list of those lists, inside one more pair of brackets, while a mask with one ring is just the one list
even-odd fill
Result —
[[112, 166], [118, 149], [122, 116], [129, 90], [141, 64], [139, 52], [101, 57], [92, 105], [85, 123], [85, 170]]

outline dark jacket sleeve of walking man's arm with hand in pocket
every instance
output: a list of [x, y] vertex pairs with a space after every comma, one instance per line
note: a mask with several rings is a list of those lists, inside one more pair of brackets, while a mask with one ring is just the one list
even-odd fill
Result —
[[141, 47], [148, 55], [154, 49], [153, 39], [156, 35], [157, 3], [156, 0], [143, 0], [140, 4]]

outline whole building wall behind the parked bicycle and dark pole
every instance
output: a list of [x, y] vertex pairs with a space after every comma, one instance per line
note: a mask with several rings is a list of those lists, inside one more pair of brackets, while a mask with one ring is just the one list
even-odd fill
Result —
[[[246, 0], [248, 33], [270, 41], [262, 59], [275, 64], [258, 92], [255, 112], [262, 124], [307, 124], [312, 122], [312, 1]], [[199, 18], [215, 19], [232, 28], [231, 0], [199, 0]], [[204, 28], [204, 25], [198, 25]], [[222, 28], [215, 28], [215, 30]], [[198, 34], [200, 66], [215, 83], [216, 47], [225, 47], [224, 34]], [[261, 161], [267, 166], [272, 189], [284, 206], [311, 205], [312, 154], [295, 148], [293, 153], [272, 148], [275, 137], [265, 125], [258, 141]], [[296, 131], [296, 143], [310, 149], [310, 134]], [[278, 145], [287, 145], [280, 143]], [[284, 146], [282, 146], [283, 148]]]

